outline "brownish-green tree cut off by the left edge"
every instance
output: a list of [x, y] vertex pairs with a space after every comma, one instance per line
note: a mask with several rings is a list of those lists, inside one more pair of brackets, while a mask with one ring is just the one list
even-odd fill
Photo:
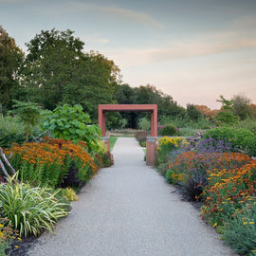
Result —
[[24, 57], [15, 40], [0, 26], [0, 115], [11, 106], [12, 91], [17, 87], [16, 72]]

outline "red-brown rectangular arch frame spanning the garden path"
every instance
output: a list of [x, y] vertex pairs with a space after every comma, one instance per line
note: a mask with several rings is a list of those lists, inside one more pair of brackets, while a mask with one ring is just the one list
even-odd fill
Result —
[[151, 112], [151, 136], [157, 137], [157, 105], [156, 104], [100, 104], [99, 125], [101, 135], [106, 135], [106, 112]]

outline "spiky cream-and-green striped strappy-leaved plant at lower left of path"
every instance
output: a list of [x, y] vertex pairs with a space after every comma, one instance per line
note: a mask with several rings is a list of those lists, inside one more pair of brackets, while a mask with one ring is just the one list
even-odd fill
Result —
[[13, 229], [20, 235], [39, 235], [44, 229], [53, 232], [54, 224], [68, 213], [66, 204], [55, 195], [59, 191], [44, 188], [31, 188], [19, 183], [16, 177], [10, 177], [8, 183], [0, 184], [0, 207], [3, 217], [9, 219]]

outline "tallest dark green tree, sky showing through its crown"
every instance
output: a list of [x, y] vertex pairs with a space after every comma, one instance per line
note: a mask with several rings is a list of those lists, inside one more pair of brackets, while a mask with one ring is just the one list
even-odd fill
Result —
[[42, 30], [26, 44], [28, 54], [20, 74], [30, 101], [48, 109], [63, 101], [64, 87], [72, 84], [84, 45], [72, 34], [69, 29]]

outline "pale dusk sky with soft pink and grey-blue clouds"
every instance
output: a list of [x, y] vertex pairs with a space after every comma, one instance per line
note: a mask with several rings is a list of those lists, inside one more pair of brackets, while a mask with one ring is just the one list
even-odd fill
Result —
[[256, 104], [256, 0], [0, 0], [0, 25], [26, 50], [41, 30], [71, 29], [121, 70], [178, 105]]

